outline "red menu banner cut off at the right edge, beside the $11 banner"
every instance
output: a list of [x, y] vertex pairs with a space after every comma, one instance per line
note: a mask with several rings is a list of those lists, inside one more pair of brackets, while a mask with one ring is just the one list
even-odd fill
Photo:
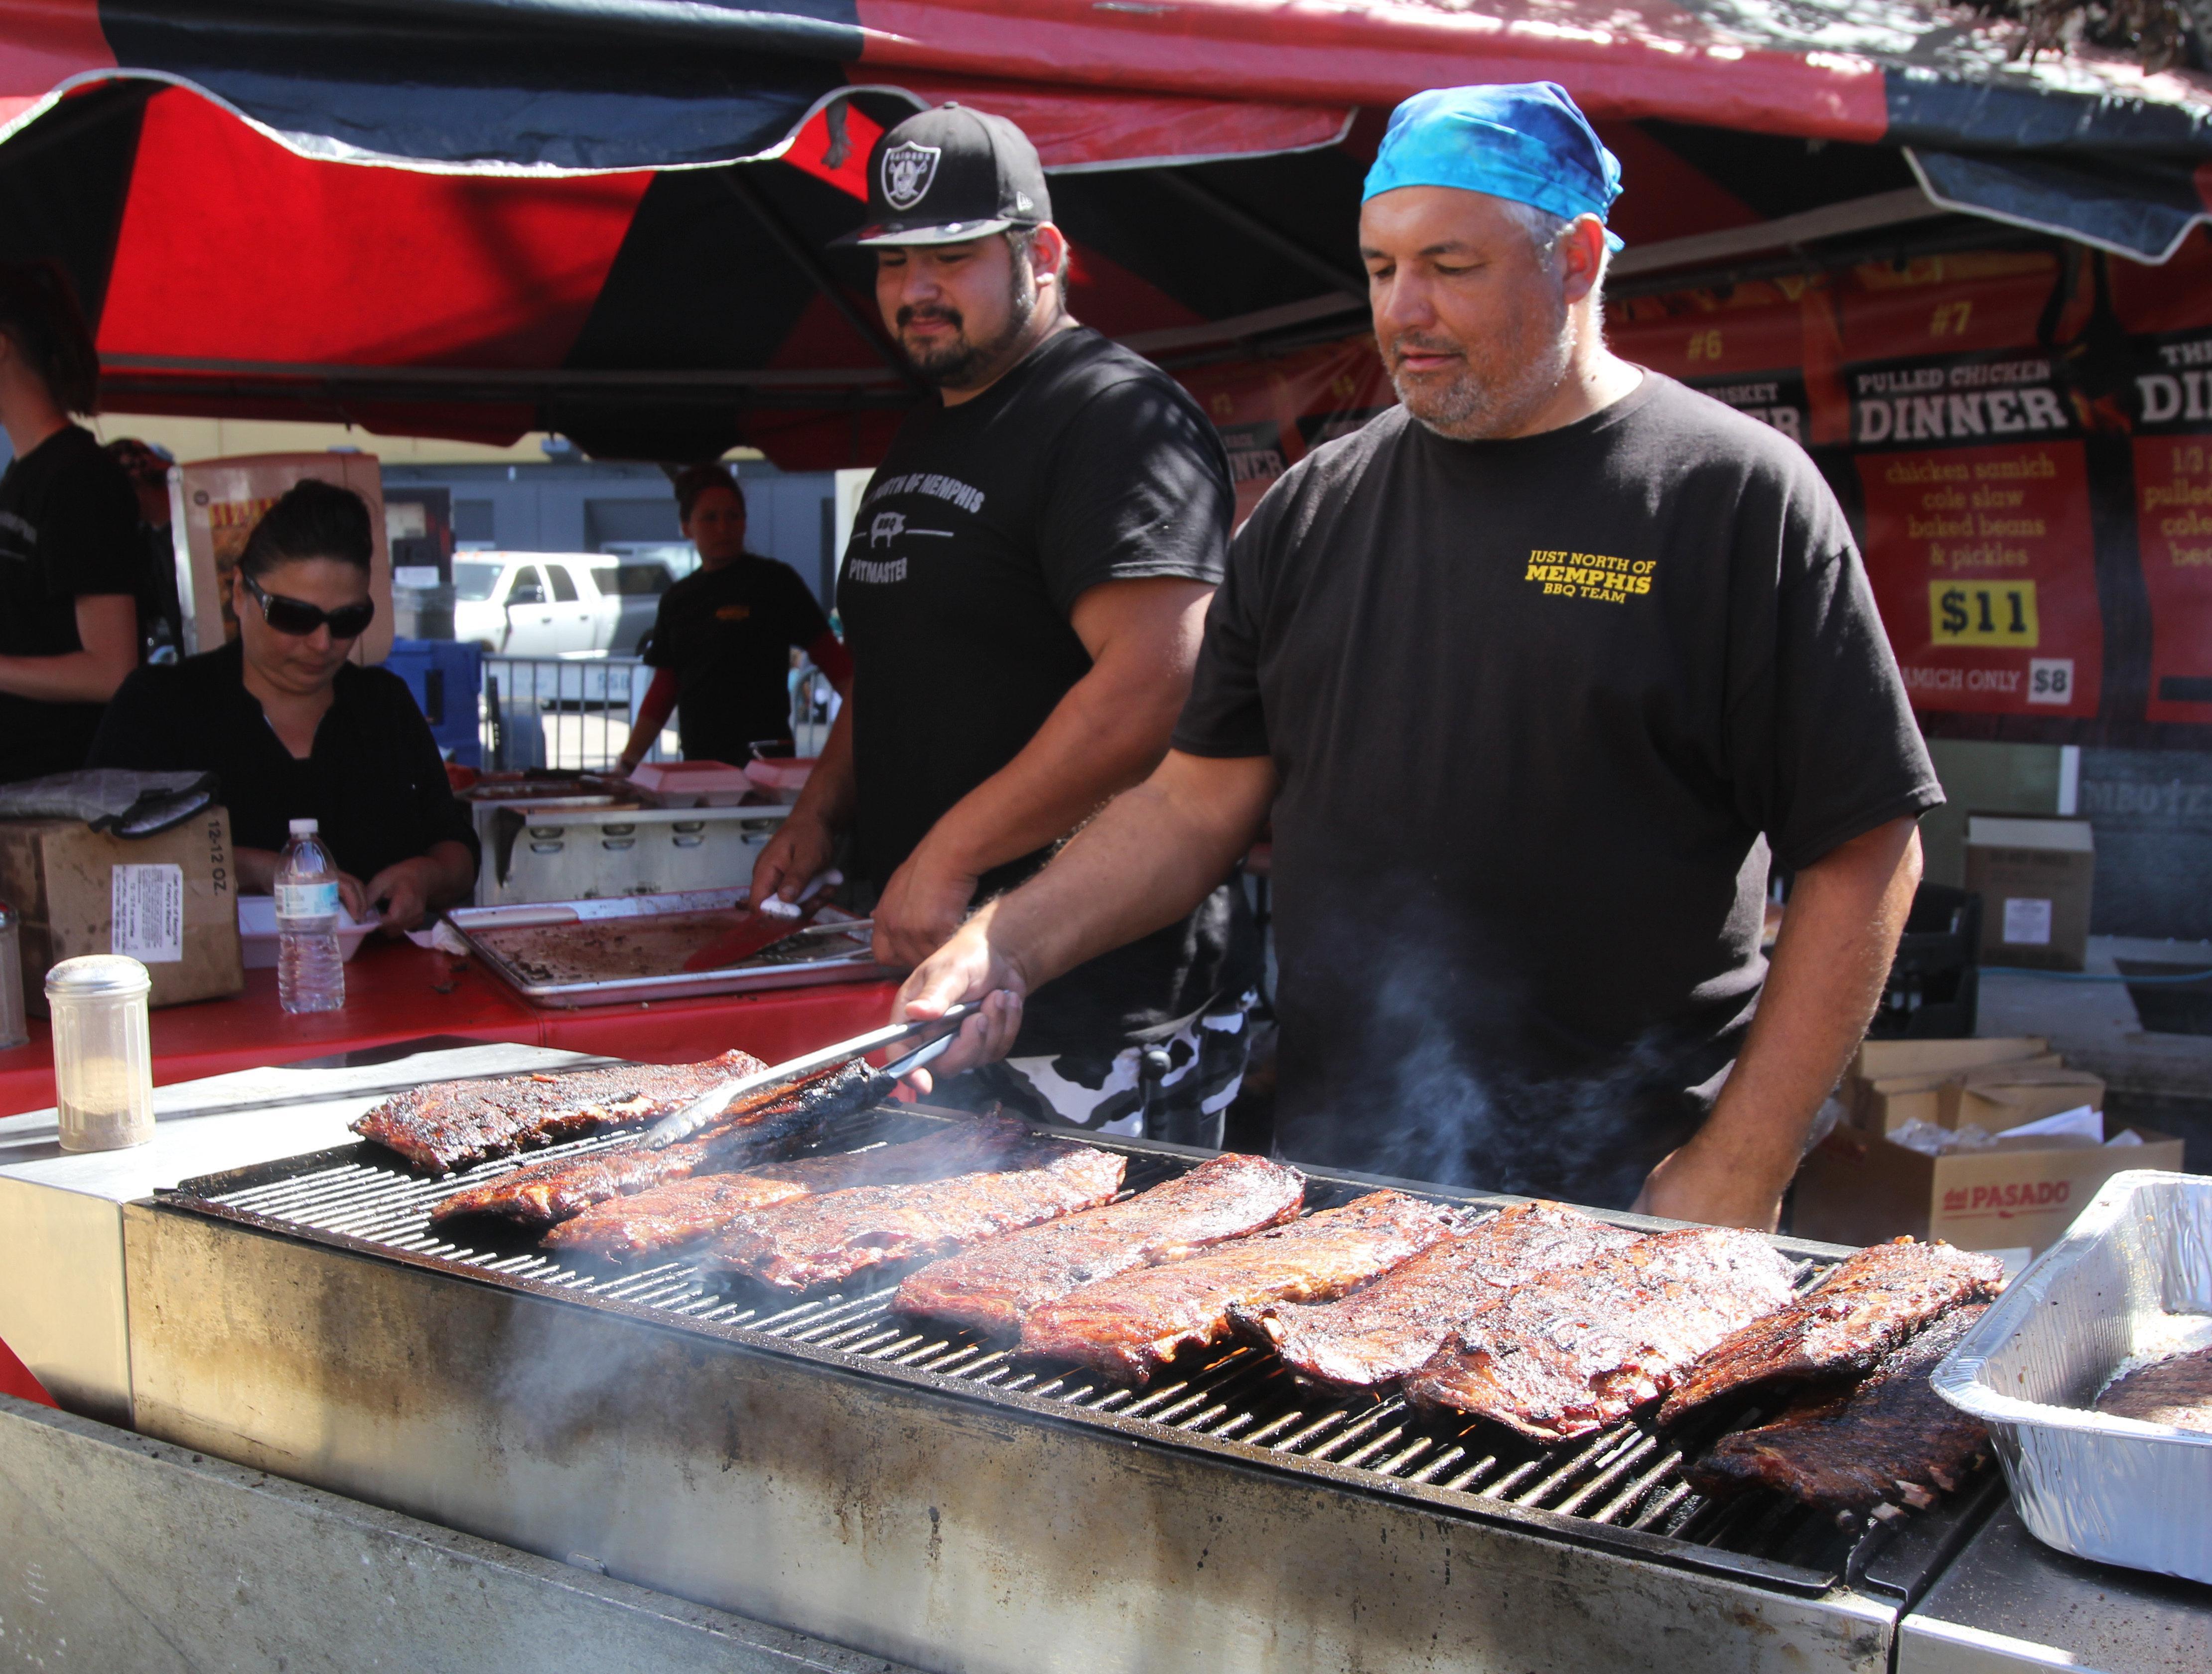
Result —
[[2150, 595], [2148, 721], [2212, 721], [2212, 332], [2143, 338], [2135, 542]]

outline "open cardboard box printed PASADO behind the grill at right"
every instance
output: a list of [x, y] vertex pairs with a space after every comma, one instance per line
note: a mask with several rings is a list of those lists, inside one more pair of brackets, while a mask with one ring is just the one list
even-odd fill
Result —
[[2000, 1139], [1995, 1150], [1924, 1157], [1878, 1134], [1838, 1128], [1798, 1168], [1790, 1230], [1798, 1238], [1845, 1245], [1909, 1234], [2026, 1260], [2057, 1243], [2112, 1174], [2181, 1168], [2179, 1139], [2150, 1128], [2135, 1132], [2141, 1145]]

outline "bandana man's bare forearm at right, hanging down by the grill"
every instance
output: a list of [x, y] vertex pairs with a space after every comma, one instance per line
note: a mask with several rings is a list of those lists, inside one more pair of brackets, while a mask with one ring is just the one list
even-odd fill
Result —
[[1920, 882], [1891, 820], [1796, 876], [1736, 1068], [1697, 1137], [1652, 1170], [1652, 1214], [1772, 1227], [1820, 1101], [1867, 1033]]

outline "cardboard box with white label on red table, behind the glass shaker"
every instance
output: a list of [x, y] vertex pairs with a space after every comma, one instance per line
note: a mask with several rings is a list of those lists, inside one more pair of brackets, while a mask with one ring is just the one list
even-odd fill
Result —
[[46, 971], [80, 953], [139, 960], [155, 1006], [246, 988], [228, 809], [131, 840], [82, 820], [0, 820], [0, 900], [22, 920], [33, 1017], [46, 1015]]

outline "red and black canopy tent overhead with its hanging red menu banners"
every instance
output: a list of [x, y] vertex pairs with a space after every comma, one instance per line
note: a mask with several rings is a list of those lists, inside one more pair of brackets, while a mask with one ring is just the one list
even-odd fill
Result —
[[[825, 245], [874, 135], [962, 100], [1250, 502], [1389, 400], [1391, 104], [1548, 77], [1626, 168], [1608, 329], [1807, 442], [1924, 714], [2203, 747], [2212, 80], [2015, 46], [1918, 0], [0, 0], [0, 228], [122, 411], [872, 464], [914, 389]], [[1984, 535], [1929, 471], [2033, 504]]]

